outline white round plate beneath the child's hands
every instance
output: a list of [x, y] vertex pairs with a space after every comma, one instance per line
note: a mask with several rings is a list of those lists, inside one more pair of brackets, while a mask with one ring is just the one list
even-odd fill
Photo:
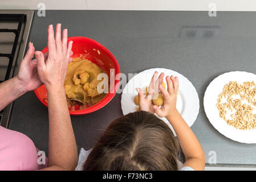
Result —
[[[137, 105], [134, 103], [134, 97], [137, 95], [136, 88], [141, 88], [145, 93], [145, 89], [149, 86], [151, 82], [151, 78], [155, 71], [160, 73], [164, 73], [166, 76], [177, 76], [178, 81], [180, 83], [178, 89], [177, 96], [177, 110], [180, 112], [182, 117], [185, 119], [186, 123], [188, 123], [189, 127], [193, 125], [194, 121], [196, 121], [198, 111], [199, 111], [199, 99], [198, 94], [192, 83], [188, 80], [188, 78], [184, 77], [178, 72], [174, 72], [170, 69], [165, 68], [153, 68], [147, 69], [143, 72], [138, 73], [133, 76], [131, 80], [125, 86], [122, 96], [121, 96], [121, 108], [123, 110], [123, 114], [128, 114], [136, 111]], [[166, 80], [164, 77], [164, 82], [166, 85]], [[168, 122], [166, 118], [161, 118], [170, 129], [173, 131], [176, 136], [172, 126]]]

